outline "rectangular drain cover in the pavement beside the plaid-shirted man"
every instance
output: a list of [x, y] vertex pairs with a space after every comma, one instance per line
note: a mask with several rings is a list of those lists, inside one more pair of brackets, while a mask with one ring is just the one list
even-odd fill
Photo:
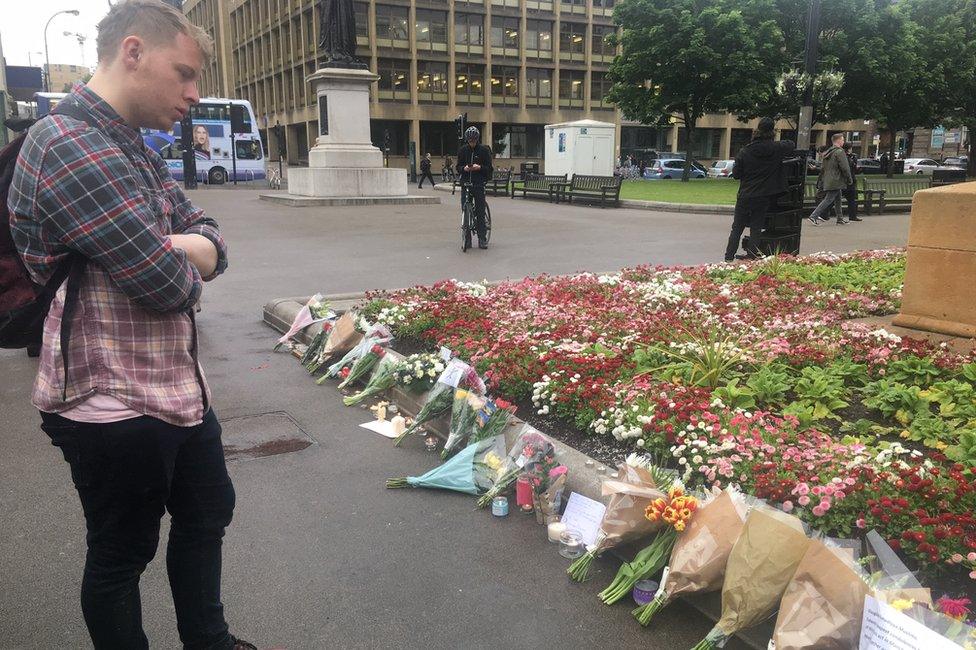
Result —
[[220, 425], [228, 460], [288, 454], [315, 443], [284, 411], [222, 419]]

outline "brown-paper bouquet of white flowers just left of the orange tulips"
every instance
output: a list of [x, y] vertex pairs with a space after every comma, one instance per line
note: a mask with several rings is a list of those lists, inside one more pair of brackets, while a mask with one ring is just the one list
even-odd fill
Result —
[[[650, 521], [645, 512], [655, 500], [666, 496], [660, 482], [670, 485], [672, 479], [664, 479], [660, 468], [635, 466], [621, 463], [616, 479], [603, 481], [601, 492], [610, 497], [596, 543], [576, 559], [566, 573], [576, 582], [586, 580], [590, 566], [597, 555], [620, 544], [645, 537], [663, 527], [662, 521]], [[655, 478], [655, 475], [658, 475]], [[665, 486], [664, 489], [667, 489]]]

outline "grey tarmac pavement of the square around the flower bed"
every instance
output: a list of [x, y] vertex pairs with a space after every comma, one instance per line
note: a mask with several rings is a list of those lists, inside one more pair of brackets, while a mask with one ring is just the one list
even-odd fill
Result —
[[[453, 493], [385, 490], [384, 479], [422, 473], [434, 457], [419, 441], [395, 449], [358, 428], [368, 411], [343, 407], [292, 357], [272, 354], [261, 308], [275, 297], [449, 277], [714, 262], [730, 217], [489, 197], [491, 247], [462, 253], [456, 203], [440, 192], [430, 191], [440, 206], [351, 208], [278, 207], [257, 194], [191, 193], [221, 224], [231, 255], [205, 291], [201, 361], [226, 430], [245, 422], [238, 418], [284, 413], [315, 444], [230, 464], [237, 509], [224, 546], [224, 604], [235, 634], [290, 649], [681, 649], [708, 631], [711, 623], [683, 604], [647, 630], [629, 603], [603, 606], [596, 593], [613, 563], [598, 562], [586, 584], [569, 583], [567, 562], [534, 518], [495, 519]], [[908, 219], [805, 229], [802, 249], [904, 245]], [[0, 648], [87, 648], [78, 603], [84, 520], [68, 468], [28, 402], [35, 367], [22, 352], [0, 352]], [[154, 648], [179, 647], [161, 560], [166, 532], [142, 581]]]

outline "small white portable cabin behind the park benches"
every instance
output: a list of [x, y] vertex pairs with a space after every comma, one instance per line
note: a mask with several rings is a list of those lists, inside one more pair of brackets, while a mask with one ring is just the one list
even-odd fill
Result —
[[614, 125], [577, 120], [546, 125], [546, 174], [613, 175]]

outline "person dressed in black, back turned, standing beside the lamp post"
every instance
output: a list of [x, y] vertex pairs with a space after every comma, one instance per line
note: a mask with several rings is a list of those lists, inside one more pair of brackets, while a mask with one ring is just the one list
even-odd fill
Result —
[[739, 250], [739, 240], [749, 227], [749, 250], [746, 256], [761, 257], [759, 240], [766, 221], [770, 201], [786, 192], [783, 159], [792, 155], [796, 144], [789, 140], [776, 141], [776, 123], [768, 117], [759, 121], [752, 142], [743, 147], [732, 165], [732, 178], [739, 180], [735, 198], [732, 231], [725, 247], [725, 261], [731, 262]]

